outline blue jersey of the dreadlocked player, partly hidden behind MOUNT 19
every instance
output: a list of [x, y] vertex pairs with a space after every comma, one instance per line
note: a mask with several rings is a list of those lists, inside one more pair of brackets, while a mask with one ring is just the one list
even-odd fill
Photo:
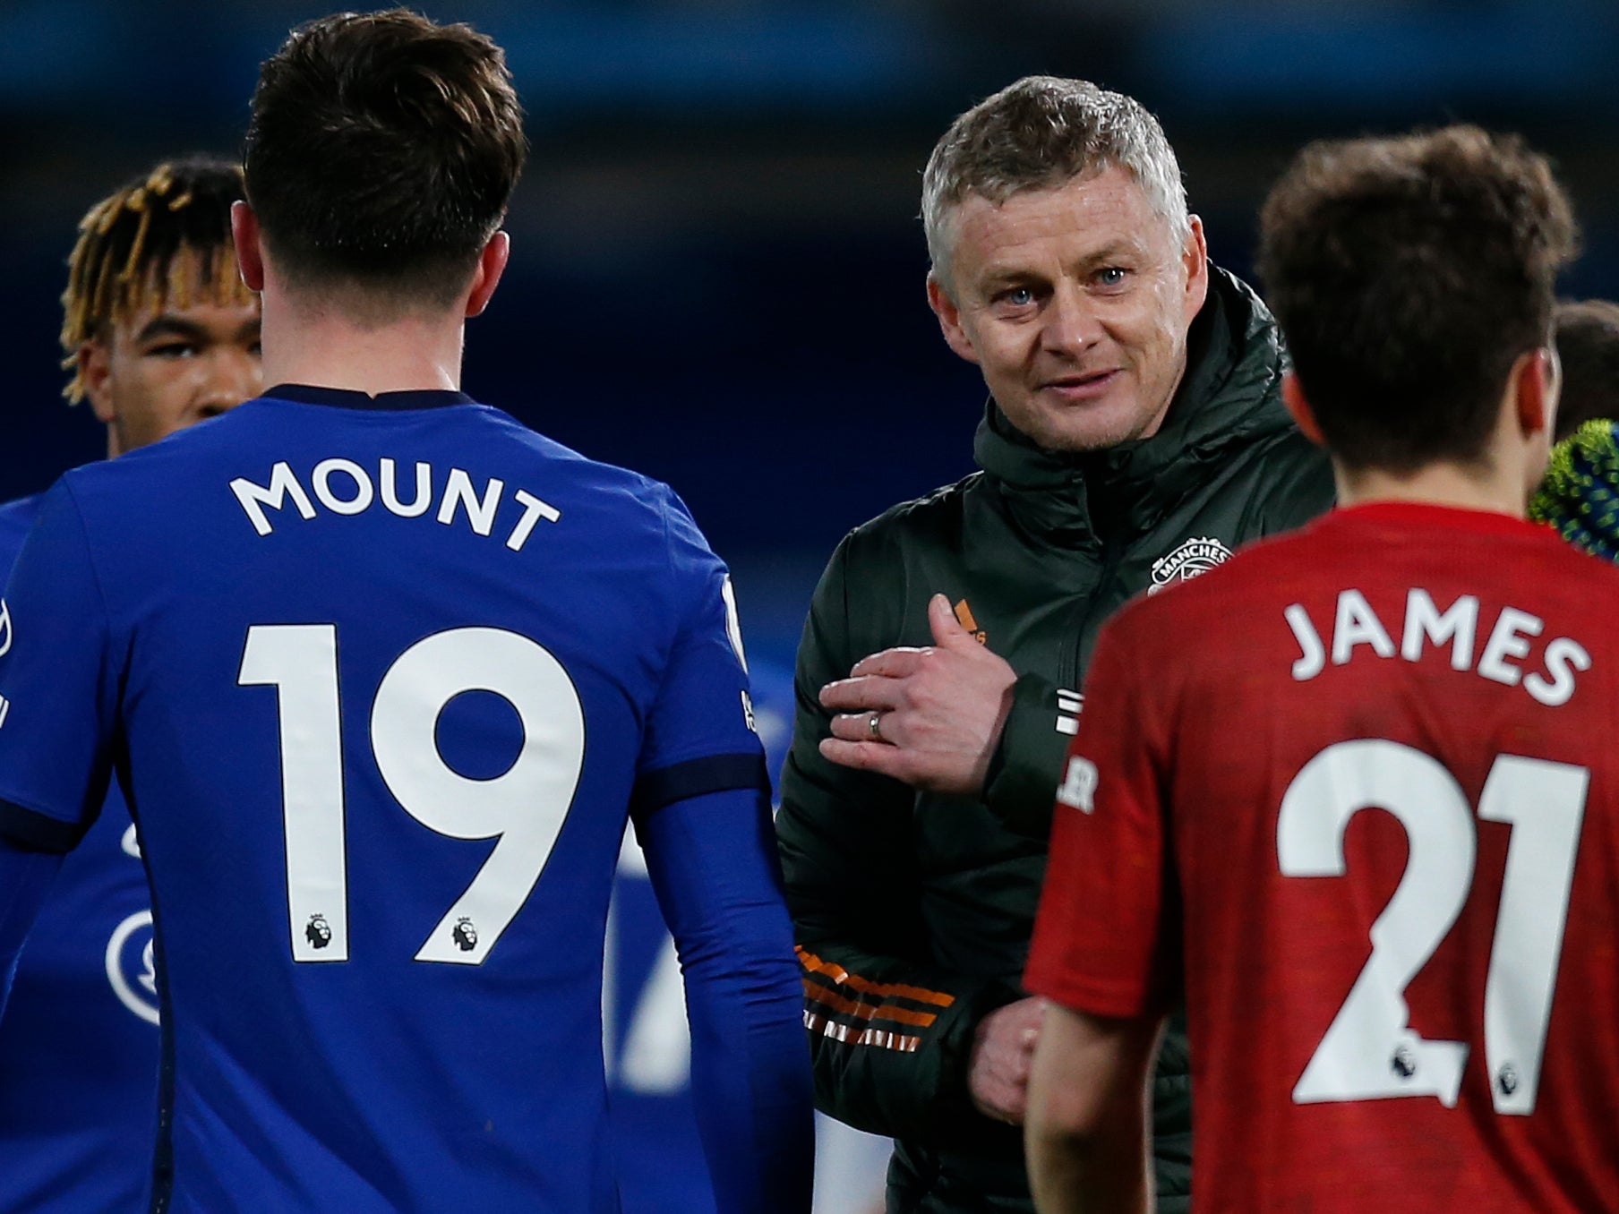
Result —
[[[39, 505], [0, 505], [0, 583]], [[155, 1130], [152, 910], [113, 787], [50, 887], [0, 1021], [0, 1209], [142, 1209]]]

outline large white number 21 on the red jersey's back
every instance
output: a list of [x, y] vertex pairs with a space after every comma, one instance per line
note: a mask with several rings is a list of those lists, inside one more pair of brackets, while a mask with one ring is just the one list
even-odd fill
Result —
[[[1478, 798], [1481, 819], [1512, 826], [1485, 981], [1485, 1060], [1496, 1112], [1535, 1110], [1588, 783], [1585, 767], [1501, 754]], [[1467, 1044], [1418, 1036], [1405, 987], [1449, 934], [1473, 884], [1477, 829], [1455, 777], [1433, 756], [1383, 738], [1328, 746], [1282, 796], [1277, 860], [1287, 877], [1342, 876], [1344, 830], [1370, 806], [1405, 827], [1410, 858], [1371, 926], [1371, 957], [1294, 1101], [1434, 1096], [1452, 1107]]]

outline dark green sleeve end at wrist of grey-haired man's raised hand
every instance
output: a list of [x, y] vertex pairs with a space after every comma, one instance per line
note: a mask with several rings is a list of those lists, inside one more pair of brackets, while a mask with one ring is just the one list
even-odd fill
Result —
[[1012, 711], [984, 779], [984, 804], [1007, 830], [1041, 842], [1051, 834], [1077, 704], [1072, 691], [1059, 691], [1043, 675], [1023, 675], [1013, 685]]

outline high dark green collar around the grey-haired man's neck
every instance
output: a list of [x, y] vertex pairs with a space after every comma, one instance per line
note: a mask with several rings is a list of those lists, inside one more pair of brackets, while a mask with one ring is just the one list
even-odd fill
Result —
[[1158, 434], [1103, 452], [1047, 452], [989, 400], [973, 455], [1031, 531], [1128, 539], [1203, 484], [1222, 452], [1292, 424], [1277, 393], [1281, 363], [1271, 312], [1211, 264], [1208, 299], [1187, 333], [1187, 374]]

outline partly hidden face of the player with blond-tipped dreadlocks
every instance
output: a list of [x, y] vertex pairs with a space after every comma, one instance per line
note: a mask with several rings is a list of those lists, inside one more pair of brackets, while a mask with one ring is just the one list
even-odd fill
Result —
[[108, 455], [133, 452], [235, 408], [264, 387], [259, 304], [172, 303], [115, 319], [79, 351], [84, 395], [107, 422]]

